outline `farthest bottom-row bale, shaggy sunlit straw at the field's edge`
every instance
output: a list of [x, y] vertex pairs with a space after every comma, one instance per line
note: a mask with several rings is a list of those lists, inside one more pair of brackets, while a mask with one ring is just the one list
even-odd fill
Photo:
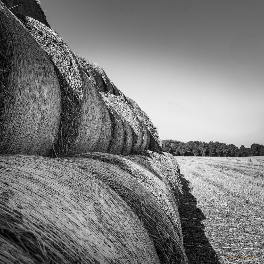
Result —
[[134, 155], [134, 161], [148, 168], [166, 184], [171, 185], [178, 206], [182, 185], [179, 176], [180, 167], [174, 157], [169, 153], [151, 150], [134, 152], [134, 154], [137, 154]]

